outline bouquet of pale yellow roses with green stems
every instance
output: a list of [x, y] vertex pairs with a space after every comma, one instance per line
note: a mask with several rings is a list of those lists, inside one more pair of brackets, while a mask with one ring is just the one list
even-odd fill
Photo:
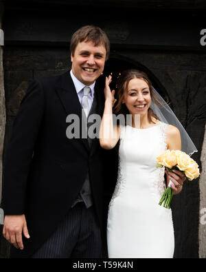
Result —
[[[198, 164], [189, 155], [180, 150], [170, 151], [167, 149], [161, 153], [157, 157], [157, 167], [165, 167], [168, 171], [172, 171], [173, 169], [180, 170], [185, 174], [188, 180], [193, 180], [200, 176]], [[172, 196], [173, 190], [169, 183], [168, 188], [165, 189], [163, 196], [159, 201], [159, 205], [162, 205], [163, 203], [163, 207], [170, 209]]]

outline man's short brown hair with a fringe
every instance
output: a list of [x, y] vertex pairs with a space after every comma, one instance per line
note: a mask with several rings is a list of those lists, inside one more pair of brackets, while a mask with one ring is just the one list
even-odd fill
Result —
[[70, 52], [72, 56], [74, 55], [78, 43], [82, 43], [82, 41], [92, 41], [95, 46], [104, 45], [106, 49], [106, 60], [108, 59], [110, 43], [108, 36], [106, 36], [106, 33], [101, 28], [94, 25], [85, 25], [74, 32], [70, 41]]

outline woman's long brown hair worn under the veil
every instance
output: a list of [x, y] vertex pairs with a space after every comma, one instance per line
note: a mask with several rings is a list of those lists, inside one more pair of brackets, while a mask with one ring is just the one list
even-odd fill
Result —
[[[124, 72], [121, 73], [119, 78], [117, 79], [117, 105], [114, 107], [114, 112], [116, 115], [118, 114], [124, 114], [126, 117], [126, 114], [130, 114], [125, 103], [122, 104], [122, 101], [124, 99], [124, 92], [128, 89], [128, 83], [130, 82], [131, 79], [143, 79], [148, 83], [148, 87], [150, 89], [150, 96], [151, 96], [151, 101], [154, 101], [155, 93], [152, 90], [152, 83], [150, 79], [148, 78], [148, 75], [145, 72], [131, 69], [131, 70], [125, 70]], [[158, 100], [158, 99], [157, 99]], [[156, 118], [159, 120], [159, 118], [154, 114], [151, 108], [148, 109], [148, 121], [150, 123], [154, 123], [152, 121], [152, 117]]]

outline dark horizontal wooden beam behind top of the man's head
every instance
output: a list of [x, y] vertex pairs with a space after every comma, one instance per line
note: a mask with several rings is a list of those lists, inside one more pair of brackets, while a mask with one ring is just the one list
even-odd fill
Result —
[[[8, 7], [9, 8], [9, 7]], [[72, 12], [71, 12], [72, 8]], [[55, 10], [8, 10], [4, 19], [5, 45], [67, 46], [74, 31], [85, 24], [94, 24], [104, 29], [112, 45], [122, 48], [170, 48], [204, 50], [201, 46], [201, 29], [204, 14], [201, 11], [160, 12], [141, 11], [115, 12], [89, 7], [85, 17], [82, 7], [58, 6]], [[45, 14], [47, 19], [45, 20]], [[68, 16], [69, 14], [69, 16]], [[15, 21], [15, 28], [12, 27]]]

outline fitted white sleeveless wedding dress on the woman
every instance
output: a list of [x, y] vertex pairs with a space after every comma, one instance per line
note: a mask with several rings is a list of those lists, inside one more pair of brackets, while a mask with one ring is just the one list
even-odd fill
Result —
[[118, 179], [108, 209], [108, 258], [172, 258], [172, 211], [160, 206], [165, 123], [148, 129], [120, 127]]

